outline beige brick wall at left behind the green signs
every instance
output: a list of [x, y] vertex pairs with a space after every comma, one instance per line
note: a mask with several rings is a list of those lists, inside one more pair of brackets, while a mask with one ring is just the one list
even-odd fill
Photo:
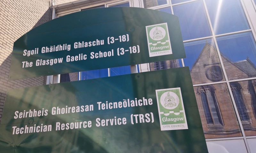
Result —
[[[56, 0], [56, 4], [74, 0]], [[50, 20], [49, 0], [0, 1], [0, 121], [6, 91], [9, 89], [43, 85], [45, 77], [8, 81], [12, 47], [20, 36]]]

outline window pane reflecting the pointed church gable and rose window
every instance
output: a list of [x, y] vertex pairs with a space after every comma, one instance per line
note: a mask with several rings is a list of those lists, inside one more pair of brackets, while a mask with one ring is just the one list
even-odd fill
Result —
[[183, 61], [190, 69], [193, 84], [225, 80], [213, 39], [185, 42], [184, 47], [187, 58]]

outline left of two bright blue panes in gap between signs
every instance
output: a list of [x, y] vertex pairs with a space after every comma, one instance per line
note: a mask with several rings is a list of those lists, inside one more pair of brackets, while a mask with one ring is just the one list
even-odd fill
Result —
[[108, 77], [108, 69], [97, 69], [81, 72], [81, 80]]

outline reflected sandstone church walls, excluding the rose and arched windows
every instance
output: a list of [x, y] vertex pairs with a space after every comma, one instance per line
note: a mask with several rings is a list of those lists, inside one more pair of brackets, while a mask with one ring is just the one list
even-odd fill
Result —
[[[198, 56], [196, 62], [193, 64], [190, 74], [192, 77], [193, 84], [202, 84], [213, 82], [206, 77], [207, 69], [212, 65], [220, 65], [220, 60], [218, 57], [218, 52], [209, 43], [205, 43], [203, 50]], [[223, 64], [226, 66], [226, 72], [232, 77], [232, 79], [238, 79], [241, 77], [249, 77], [242, 69], [238, 68], [233, 62], [231, 62], [227, 57], [221, 56]], [[222, 72], [223, 75], [223, 72]], [[222, 80], [225, 81], [223, 77]], [[242, 122], [245, 135], [254, 135], [256, 131], [256, 82], [254, 80], [246, 80], [238, 82], [241, 85], [241, 95], [244, 100], [244, 104], [249, 116], [250, 122]], [[251, 85], [251, 86], [250, 86]], [[196, 94], [196, 101], [204, 129], [204, 135], [206, 139], [211, 138], [223, 138], [223, 137], [238, 137], [242, 136], [241, 129], [236, 117], [236, 113], [232, 104], [231, 97], [228, 93], [228, 87], [226, 84], [213, 84], [214, 95], [216, 96], [216, 101], [219, 104], [219, 109], [221, 117], [223, 120], [223, 125], [208, 125], [205, 120], [204, 110], [202, 102], [199, 95], [199, 89], [201, 86], [194, 87]], [[251, 88], [251, 89], [250, 89]]]

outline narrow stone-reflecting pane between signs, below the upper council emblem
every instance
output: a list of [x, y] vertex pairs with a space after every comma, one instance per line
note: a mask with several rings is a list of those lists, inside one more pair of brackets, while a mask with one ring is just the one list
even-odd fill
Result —
[[150, 71], [182, 67], [181, 59], [149, 63]]

